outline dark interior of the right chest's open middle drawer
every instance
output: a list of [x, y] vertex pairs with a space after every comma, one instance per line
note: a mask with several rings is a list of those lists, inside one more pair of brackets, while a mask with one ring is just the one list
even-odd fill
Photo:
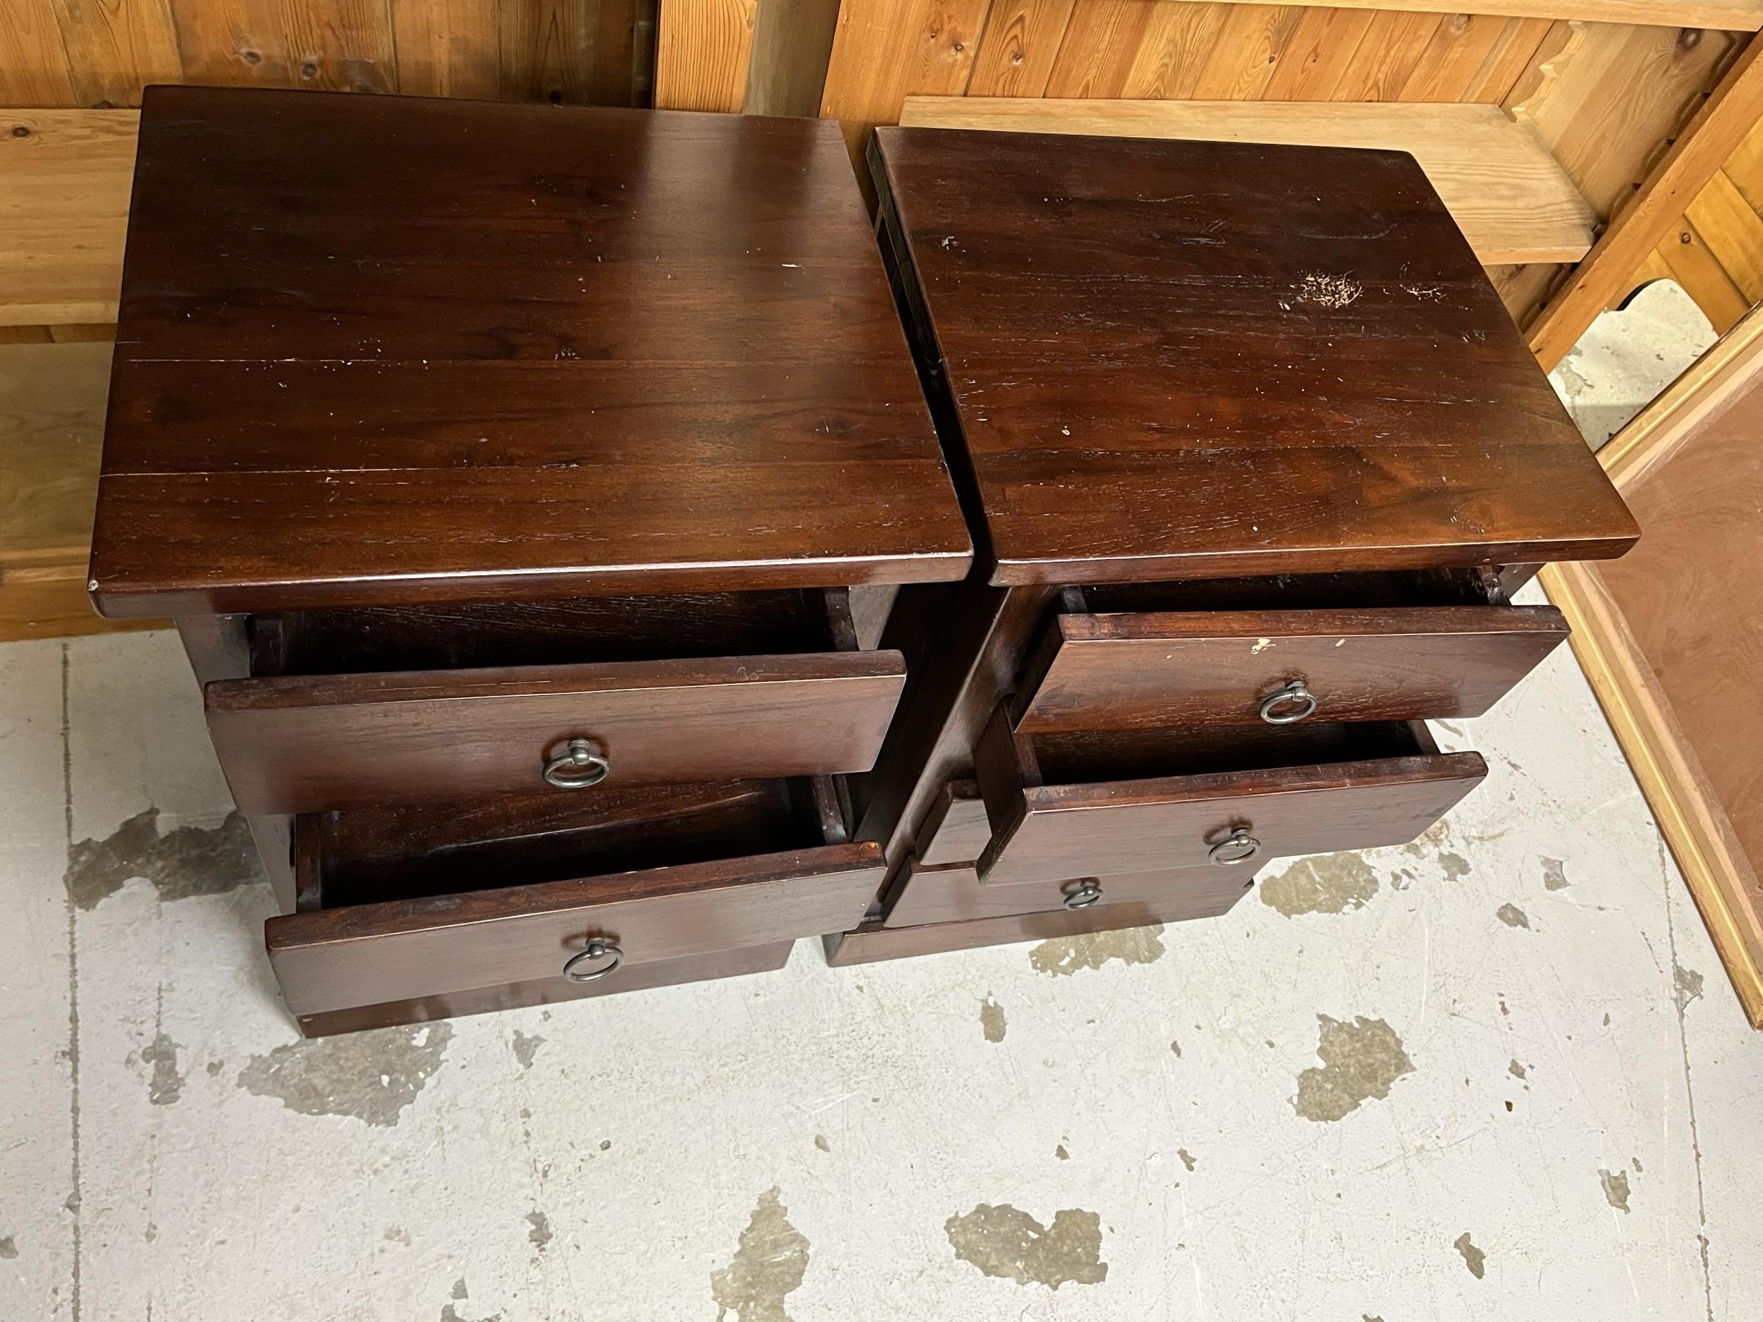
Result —
[[1024, 779], [1097, 784], [1160, 776], [1246, 772], [1437, 753], [1416, 721], [1343, 721], [1296, 726], [1192, 726], [1075, 730], [1015, 735]]

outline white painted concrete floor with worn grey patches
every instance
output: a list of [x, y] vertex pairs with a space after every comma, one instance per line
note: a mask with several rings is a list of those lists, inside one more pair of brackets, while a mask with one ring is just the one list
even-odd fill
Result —
[[1218, 920], [321, 1042], [176, 640], [0, 694], [0, 1322], [1763, 1317], [1763, 1035], [1566, 649]]

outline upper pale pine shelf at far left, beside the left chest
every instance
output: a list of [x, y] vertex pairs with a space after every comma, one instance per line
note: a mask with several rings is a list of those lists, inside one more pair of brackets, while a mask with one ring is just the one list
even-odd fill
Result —
[[139, 111], [0, 111], [0, 326], [116, 321]]

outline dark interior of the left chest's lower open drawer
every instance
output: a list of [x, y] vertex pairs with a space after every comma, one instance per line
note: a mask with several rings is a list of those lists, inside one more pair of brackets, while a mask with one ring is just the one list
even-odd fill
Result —
[[294, 873], [300, 908], [328, 910], [820, 848], [846, 814], [806, 776], [309, 813]]

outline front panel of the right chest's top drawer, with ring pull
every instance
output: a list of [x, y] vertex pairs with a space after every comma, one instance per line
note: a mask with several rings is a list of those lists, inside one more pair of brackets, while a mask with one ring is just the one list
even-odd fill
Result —
[[[1015, 728], [1481, 716], [1566, 636], [1553, 606], [1058, 615]], [[1294, 682], [1313, 703], [1294, 694], [1264, 717]]]

